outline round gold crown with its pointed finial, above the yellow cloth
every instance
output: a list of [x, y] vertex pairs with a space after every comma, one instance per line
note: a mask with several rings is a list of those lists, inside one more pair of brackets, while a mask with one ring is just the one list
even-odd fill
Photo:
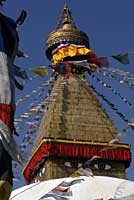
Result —
[[[61, 25], [63, 24], [62, 28]], [[71, 11], [65, 4], [61, 16], [58, 21], [56, 30], [51, 32], [46, 40], [46, 56], [49, 60], [52, 58], [52, 51], [57, 48], [58, 45], [64, 43], [73, 43], [79, 45], [85, 45], [87, 48], [89, 46], [89, 39], [86, 33], [78, 30], [72, 18]]]

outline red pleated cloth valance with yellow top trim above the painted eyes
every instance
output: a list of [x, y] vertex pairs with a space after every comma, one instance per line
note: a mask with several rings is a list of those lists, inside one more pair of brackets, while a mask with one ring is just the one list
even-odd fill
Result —
[[[106, 144], [106, 143], [105, 143]], [[113, 144], [114, 145], [114, 144]], [[91, 143], [89, 142], [79, 142], [77, 143], [72, 141], [72, 143], [68, 140], [51, 140], [44, 139], [41, 142], [41, 145], [37, 149], [37, 151], [33, 154], [32, 159], [27, 164], [24, 169], [24, 177], [26, 183], [29, 181], [29, 176], [31, 172], [34, 171], [35, 166], [43, 159], [49, 156], [55, 157], [84, 157], [90, 158], [94, 155], [100, 156], [103, 159], [110, 160], [118, 160], [118, 161], [127, 161], [131, 160], [131, 153], [129, 145], [124, 144], [116, 144], [116, 148], [109, 148], [105, 151], [100, 151], [104, 147], [108, 147], [104, 145], [104, 143]]]

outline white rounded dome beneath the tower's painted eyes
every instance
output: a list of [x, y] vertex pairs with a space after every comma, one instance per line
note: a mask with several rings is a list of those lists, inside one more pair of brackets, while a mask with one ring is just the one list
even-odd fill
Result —
[[80, 176], [24, 186], [14, 190], [10, 200], [132, 200], [133, 189], [133, 181], [103, 176]]

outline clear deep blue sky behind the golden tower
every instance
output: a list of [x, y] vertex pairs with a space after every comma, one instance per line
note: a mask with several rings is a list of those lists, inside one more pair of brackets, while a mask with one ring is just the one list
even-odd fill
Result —
[[[42, 65], [49, 65], [50, 62], [44, 54], [44, 46], [47, 35], [53, 31], [57, 25], [60, 10], [67, 3], [72, 11], [76, 26], [86, 32], [89, 36], [90, 46], [98, 56], [111, 56], [113, 54], [126, 53], [134, 51], [134, 1], [133, 0], [7, 0], [1, 11], [16, 19], [21, 10], [28, 12], [27, 19], [20, 27], [20, 49], [25, 51], [28, 59], [17, 59], [16, 64], [27, 69]], [[134, 58], [131, 58], [131, 64], [121, 65], [110, 59], [110, 66], [120, 68], [125, 71], [134, 72]], [[128, 87], [118, 87], [116, 82], [109, 80], [122, 95], [126, 96], [134, 103], [134, 92]], [[35, 85], [37, 83], [34, 83]], [[99, 89], [99, 88], [98, 88]], [[27, 90], [28, 91], [28, 90]], [[30, 93], [30, 91], [29, 91]], [[122, 113], [130, 119], [134, 116], [134, 109], [130, 110], [125, 104], [118, 99], [113, 99], [110, 94], [105, 92], [111, 101], [117, 103]], [[25, 94], [25, 91], [23, 92]], [[21, 96], [17, 91], [17, 97]], [[17, 108], [16, 112], [20, 112]], [[125, 123], [104, 103], [107, 113], [115, 122], [116, 128], [122, 130]], [[103, 133], [102, 133], [103, 134]], [[22, 136], [20, 136], [22, 137]], [[128, 131], [124, 138], [125, 143], [134, 146], [134, 131]], [[134, 166], [127, 170], [127, 177], [134, 179]], [[17, 186], [21, 184], [15, 183]]]

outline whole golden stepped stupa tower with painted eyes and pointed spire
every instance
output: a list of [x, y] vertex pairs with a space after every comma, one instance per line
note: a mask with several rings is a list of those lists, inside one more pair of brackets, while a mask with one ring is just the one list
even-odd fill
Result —
[[85, 72], [91, 74], [100, 63], [67, 5], [47, 37], [45, 51], [54, 83], [44, 102], [47, 111], [32, 157], [23, 170], [26, 182], [79, 175], [75, 172], [80, 168], [90, 168], [94, 175], [125, 178], [130, 146], [117, 139], [113, 122], [85, 79]]

